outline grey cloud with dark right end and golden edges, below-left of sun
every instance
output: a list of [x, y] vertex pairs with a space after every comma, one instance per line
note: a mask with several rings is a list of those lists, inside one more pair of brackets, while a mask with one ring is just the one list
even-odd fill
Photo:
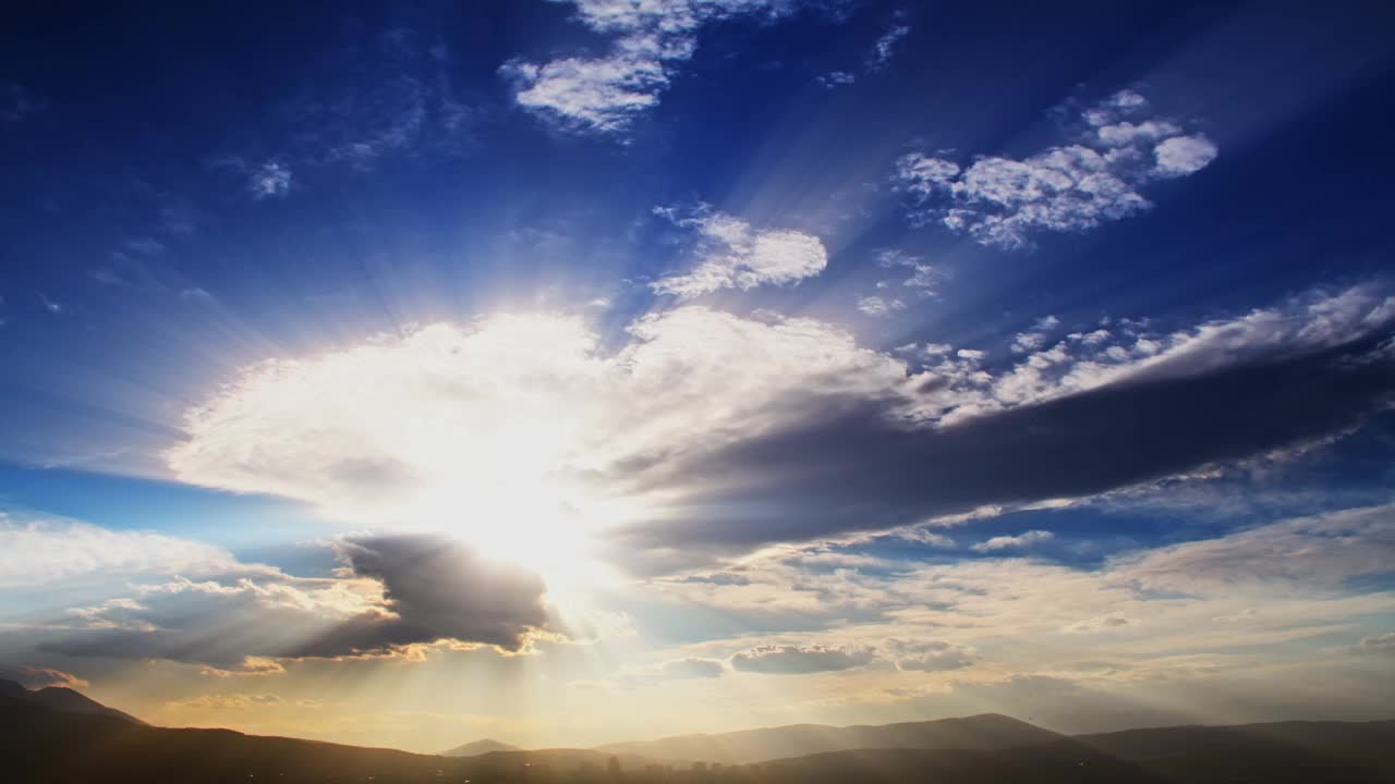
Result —
[[[541, 578], [448, 537], [359, 536], [335, 548], [345, 568], [332, 578], [222, 561], [212, 568], [194, 562], [205, 572], [201, 579], [131, 582], [116, 589], [126, 596], [73, 607], [32, 629], [33, 650], [266, 675], [283, 671], [278, 660], [395, 656], [442, 642], [519, 651], [551, 625]], [[148, 552], [166, 555], [167, 548]], [[141, 571], [169, 575], [187, 566], [172, 558]]]

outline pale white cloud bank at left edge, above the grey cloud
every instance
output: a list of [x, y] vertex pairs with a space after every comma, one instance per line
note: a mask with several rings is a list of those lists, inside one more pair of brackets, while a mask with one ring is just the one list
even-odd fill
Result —
[[112, 532], [0, 512], [0, 587], [133, 575], [212, 575], [236, 566], [225, 550], [149, 532]]

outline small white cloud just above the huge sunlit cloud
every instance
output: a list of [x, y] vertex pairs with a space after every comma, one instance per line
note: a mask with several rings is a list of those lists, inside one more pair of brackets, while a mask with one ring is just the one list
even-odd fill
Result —
[[718, 289], [746, 292], [763, 285], [792, 285], [819, 275], [829, 265], [829, 251], [812, 234], [753, 229], [739, 218], [706, 206], [688, 218], [678, 218], [675, 208], [656, 212], [698, 236], [695, 265], [688, 272], [656, 280], [650, 287], [660, 294], [691, 299]]

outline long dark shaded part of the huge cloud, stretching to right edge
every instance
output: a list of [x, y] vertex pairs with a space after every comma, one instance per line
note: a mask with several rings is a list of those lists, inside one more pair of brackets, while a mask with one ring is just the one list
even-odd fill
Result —
[[891, 402], [826, 398], [785, 419], [797, 424], [636, 470], [636, 490], [679, 501], [618, 530], [611, 552], [661, 572], [771, 541], [1088, 497], [1328, 438], [1395, 399], [1384, 339], [1116, 382], [943, 427], [898, 421]]

